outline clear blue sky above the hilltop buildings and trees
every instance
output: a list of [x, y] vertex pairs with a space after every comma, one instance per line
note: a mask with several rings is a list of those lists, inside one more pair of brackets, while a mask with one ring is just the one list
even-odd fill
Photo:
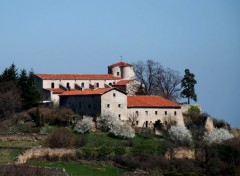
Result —
[[0, 72], [107, 73], [121, 56], [190, 69], [202, 110], [240, 128], [239, 0], [0, 0]]

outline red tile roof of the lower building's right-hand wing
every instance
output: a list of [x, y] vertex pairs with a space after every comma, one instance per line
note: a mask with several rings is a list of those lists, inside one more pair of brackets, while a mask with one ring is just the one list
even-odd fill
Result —
[[128, 107], [176, 107], [181, 105], [160, 96], [128, 96]]

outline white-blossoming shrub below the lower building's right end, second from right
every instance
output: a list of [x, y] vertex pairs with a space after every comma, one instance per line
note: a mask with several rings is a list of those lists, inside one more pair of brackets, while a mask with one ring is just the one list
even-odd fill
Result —
[[192, 143], [191, 132], [185, 126], [171, 126], [168, 133], [172, 140], [179, 144], [190, 145]]

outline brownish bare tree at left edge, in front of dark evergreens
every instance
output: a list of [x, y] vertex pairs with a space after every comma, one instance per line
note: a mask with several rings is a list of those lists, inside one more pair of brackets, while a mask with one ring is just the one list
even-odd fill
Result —
[[21, 93], [13, 82], [0, 83], [0, 116], [21, 108]]

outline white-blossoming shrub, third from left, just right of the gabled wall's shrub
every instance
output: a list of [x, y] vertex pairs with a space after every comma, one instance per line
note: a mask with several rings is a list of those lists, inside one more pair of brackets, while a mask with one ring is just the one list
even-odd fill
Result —
[[110, 129], [110, 133], [123, 138], [133, 138], [135, 136], [134, 130], [130, 125], [120, 124], [119, 122], [115, 122], [113, 124], [112, 129]]

